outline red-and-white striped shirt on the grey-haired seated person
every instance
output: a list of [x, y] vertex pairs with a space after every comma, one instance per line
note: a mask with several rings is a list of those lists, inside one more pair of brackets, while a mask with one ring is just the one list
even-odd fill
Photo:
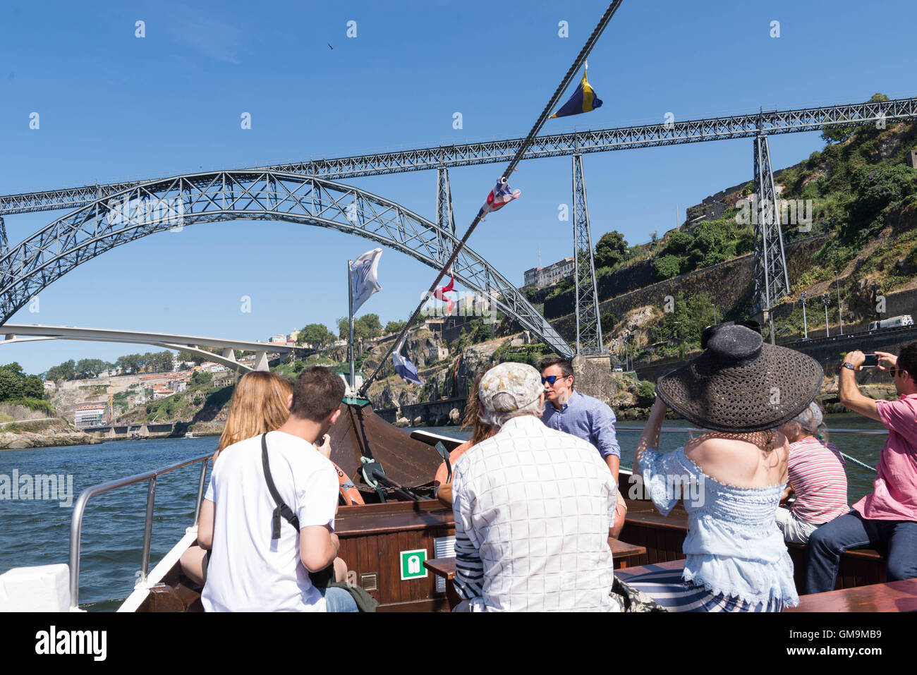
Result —
[[825, 447], [811, 436], [790, 443], [787, 470], [796, 492], [790, 510], [799, 520], [822, 525], [850, 511], [844, 458], [830, 443]]

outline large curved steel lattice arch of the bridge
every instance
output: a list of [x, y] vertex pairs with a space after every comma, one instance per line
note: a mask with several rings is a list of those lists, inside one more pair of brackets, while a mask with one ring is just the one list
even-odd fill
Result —
[[[450, 231], [401, 205], [315, 176], [271, 170], [183, 174], [99, 197], [6, 251], [0, 258], [0, 325], [41, 289], [107, 250], [165, 230], [237, 219], [329, 227], [436, 270], [458, 245]], [[479, 254], [464, 247], [453, 272], [559, 355], [573, 356], [547, 319]]]

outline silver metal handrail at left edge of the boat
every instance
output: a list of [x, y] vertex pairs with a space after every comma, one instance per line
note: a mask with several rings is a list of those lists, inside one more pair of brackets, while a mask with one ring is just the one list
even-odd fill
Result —
[[70, 607], [74, 609], [79, 604], [80, 599], [80, 538], [83, 534], [83, 512], [86, 509], [86, 503], [94, 497], [96, 494], [102, 494], [103, 492], [111, 492], [119, 488], [127, 487], [127, 485], [133, 485], [140, 481], [149, 481], [149, 488], [147, 490], [147, 515], [146, 521], [143, 526], [143, 553], [140, 557], [140, 579], [138, 583], [147, 581], [147, 573], [149, 572], [149, 547], [150, 541], [152, 540], [153, 535], [153, 507], [156, 503], [156, 479], [164, 473], [169, 473], [176, 469], [182, 469], [182, 467], [189, 466], [191, 464], [196, 464], [197, 462], [203, 461], [204, 464], [201, 466], [201, 479], [198, 481], [197, 485], [197, 499], [194, 503], [194, 525], [197, 525], [197, 519], [201, 514], [201, 503], [204, 497], [204, 477], [207, 472], [207, 460], [213, 457], [212, 454], [206, 454], [203, 457], [198, 457], [196, 459], [185, 459], [180, 461], [177, 464], [172, 464], [171, 466], [166, 467], [165, 469], [147, 471], [145, 473], [138, 473], [134, 476], [128, 476], [127, 478], [118, 479], [116, 481], [108, 481], [99, 483], [98, 485], [93, 485], [88, 487], [83, 492], [80, 492], [80, 496], [77, 497], [76, 503], [73, 504], [73, 515], [70, 521]]

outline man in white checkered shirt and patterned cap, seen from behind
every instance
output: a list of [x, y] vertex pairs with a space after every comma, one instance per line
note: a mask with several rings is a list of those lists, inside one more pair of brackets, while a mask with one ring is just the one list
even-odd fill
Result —
[[452, 476], [456, 611], [617, 612], [611, 595], [615, 483], [588, 442], [548, 428], [541, 376], [501, 363], [481, 378], [499, 429]]

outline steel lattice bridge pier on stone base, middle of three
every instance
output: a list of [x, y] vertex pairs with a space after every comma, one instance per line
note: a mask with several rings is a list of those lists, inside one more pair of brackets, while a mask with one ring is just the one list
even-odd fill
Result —
[[573, 155], [573, 280], [576, 284], [576, 353], [604, 354], [599, 293], [595, 286], [589, 204], [582, 175], [582, 155]]

